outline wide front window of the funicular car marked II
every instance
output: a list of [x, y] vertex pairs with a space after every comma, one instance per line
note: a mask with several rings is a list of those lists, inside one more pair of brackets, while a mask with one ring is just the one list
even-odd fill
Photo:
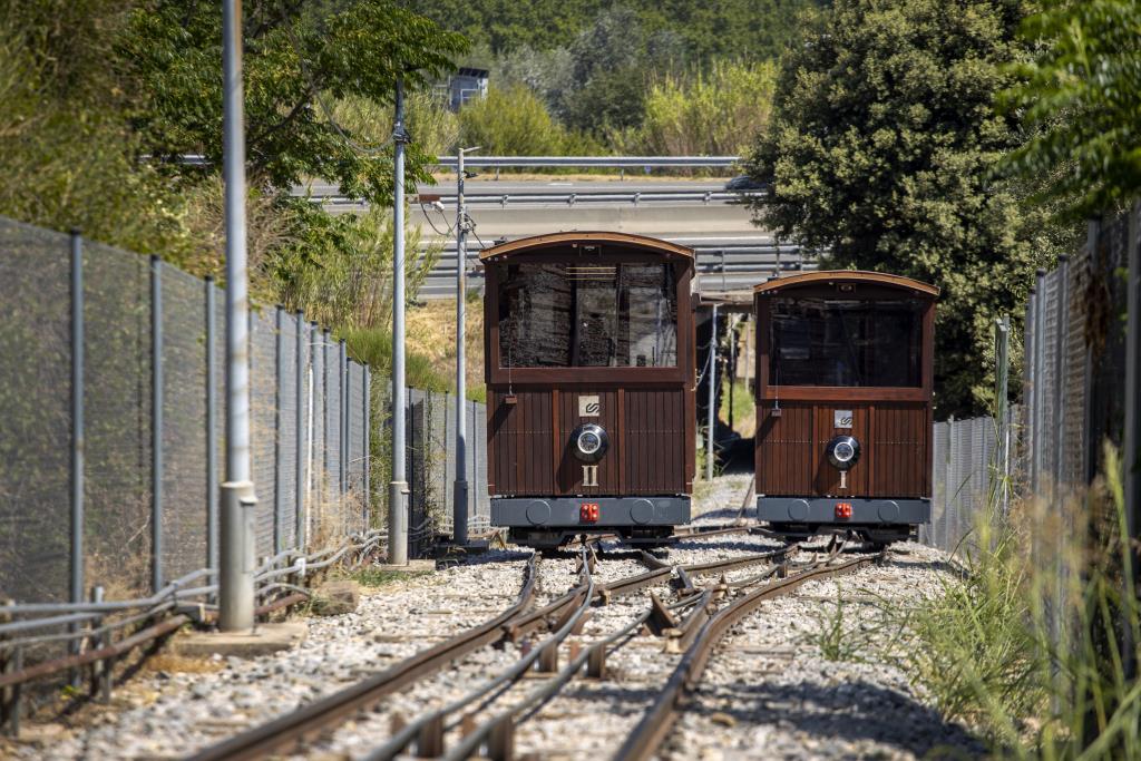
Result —
[[500, 284], [502, 367], [674, 367], [673, 265], [509, 265]]

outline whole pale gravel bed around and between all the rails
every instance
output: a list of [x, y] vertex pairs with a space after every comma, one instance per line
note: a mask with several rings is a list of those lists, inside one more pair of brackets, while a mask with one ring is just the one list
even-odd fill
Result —
[[[725, 476], [695, 499], [695, 523], [736, 517], [750, 477]], [[747, 516], [747, 513], [746, 513]], [[659, 552], [671, 562], [697, 564], [770, 551], [780, 543], [750, 534], [694, 539]], [[411, 577], [365, 596], [356, 613], [308, 618], [307, 641], [291, 653], [253, 661], [163, 661], [118, 688], [108, 707], [87, 706], [71, 719], [33, 729], [39, 739], [5, 746], [0, 756], [52, 759], [170, 759], [201, 748], [254, 723], [343, 688], [386, 669], [475, 622], [497, 615], [516, 599], [525, 551], [500, 551], [447, 570]], [[876, 607], [938, 594], [941, 554], [915, 544], [897, 545], [884, 566], [836, 582], [806, 584], [793, 597], [767, 602], [730, 633], [713, 657], [690, 710], [663, 752], [670, 759], [890, 758], [938, 755], [952, 747], [976, 755], [981, 747], [961, 728], [942, 722], [905, 673], [873, 657], [880, 621]], [[636, 552], [604, 543], [598, 583], [645, 573]], [[745, 568], [730, 581], [756, 573]], [[702, 576], [695, 583], [715, 577]], [[576, 554], [539, 564], [537, 602], [577, 583]], [[648, 594], [663, 600], [665, 584], [596, 606], [581, 634], [589, 647], [646, 610]], [[843, 637], [827, 633], [842, 602]], [[545, 634], [533, 635], [535, 638]], [[680, 656], [664, 640], [641, 634], [608, 658], [605, 680], [572, 681], [516, 730], [519, 754], [597, 761], [608, 756], [641, 718]], [[471, 654], [434, 678], [386, 699], [296, 758], [353, 759], [389, 736], [394, 721], [411, 720], [484, 683], [518, 659], [507, 643]], [[561, 653], [563, 663], [568, 653]], [[164, 665], [165, 664], [165, 665]], [[162, 670], [156, 670], [162, 669]], [[165, 667], [169, 666], [169, 667]], [[504, 694], [509, 705], [541, 685], [524, 679]], [[450, 743], [454, 736], [450, 737]]]

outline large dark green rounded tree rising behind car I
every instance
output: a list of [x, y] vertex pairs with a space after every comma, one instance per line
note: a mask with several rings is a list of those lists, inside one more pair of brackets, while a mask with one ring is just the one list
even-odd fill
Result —
[[[992, 321], [1018, 323], [1034, 270], [1063, 242], [993, 168], [1019, 145], [995, 96], [1013, 83], [1017, 0], [839, 0], [784, 63], [750, 172], [772, 184], [756, 220], [825, 266], [942, 289], [939, 414], [986, 407]], [[1015, 331], [1018, 333], [1019, 331]]]

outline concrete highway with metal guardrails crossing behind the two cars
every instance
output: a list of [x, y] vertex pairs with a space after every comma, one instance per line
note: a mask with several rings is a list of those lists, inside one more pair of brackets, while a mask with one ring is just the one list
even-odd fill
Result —
[[[743, 203], [754, 193], [735, 193], [720, 180], [686, 179], [542, 179], [469, 180], [468, 216], [475, 234], [468, 238], [471, 289], [483, 288], [479, 251], [496, 242], [568, 230], [615, 230], [661, 237], [697, 251], [702, 296], [748, 291], [777, 272], [812, 269], [816, 258], [800, 246], [779, 242], [752, 224]], [[359, 212], [365, 205], [341, 197], [335, 186], [298, 188], [334, 212]], [[410, 222], [421, 241], [442, 248], [423, 288], [422, 299], [455, 296], [455, 187], [416, 187]]]

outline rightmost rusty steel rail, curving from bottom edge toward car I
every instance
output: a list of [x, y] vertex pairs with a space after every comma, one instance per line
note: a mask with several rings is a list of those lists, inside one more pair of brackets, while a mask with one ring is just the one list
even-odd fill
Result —
[[788, 594], [809, 581], [831, 578], [859, 570], [882, 559], [883, 552], [876, 556], [855, 558], [836, 566], [826, 565], [833, 557], [830, 556], [816, 568], [766, 584], [761, 589], [738, 598], [712, 616], [702, 626], [697, 638], [681, 657], [681, 662], [673, 670], [654, 705], [642, 715], [633, 731], [626, 736], [614, 758], [621, 761], [644, 761], [661, 747], [673, 728], [683, 702], [701, 682], [714, 648], [734, 624], [756, 610], [766, 600]]

